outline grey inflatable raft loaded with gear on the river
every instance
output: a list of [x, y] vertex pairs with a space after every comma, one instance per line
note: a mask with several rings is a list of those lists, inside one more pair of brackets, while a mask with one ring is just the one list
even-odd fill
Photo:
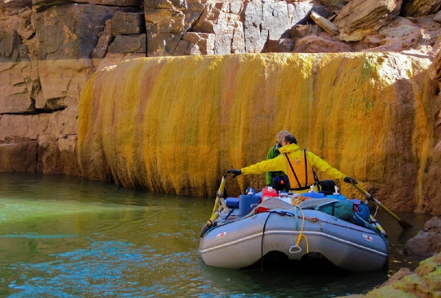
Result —
[[[250, 197], [241, 195], [238, 200], [227, 198], [226, 202], [216, 198], [216, 218], [203, 228], [199, 244], [205, 264], [243, 268], [274, 252], [283, 253], [291, 260], [318, 253], [350, 271], [379, 270], [387, 264], [387, 240], [373, 217], [359, 225], [351, 218], [353, 214], [336, 212], [342, 206], [352, 208], [350, 200], [324, 195], [318, 198], [263, 195], [258, 200], [254, 195], [253, 204], [247, 198]], [[247, 212], [245, 207], [240, 208], [240, 200], [248, 206]]]

